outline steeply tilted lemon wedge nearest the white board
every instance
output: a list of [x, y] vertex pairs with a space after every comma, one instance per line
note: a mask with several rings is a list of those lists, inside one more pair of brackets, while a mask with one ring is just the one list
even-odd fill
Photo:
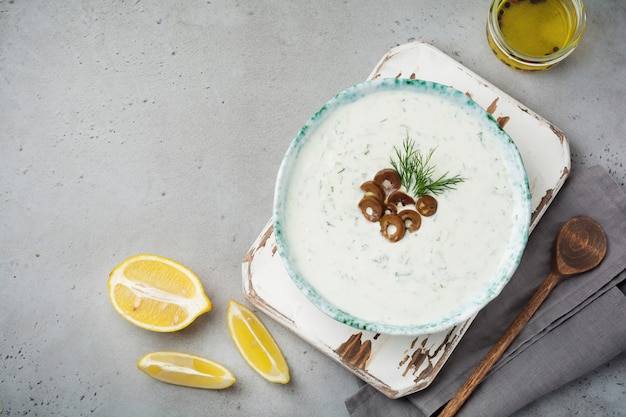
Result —
[[252, 369], [270, 382], [289, 382], [285, 357], [270, 332], [248, 307], [230, 300], [226, 321], [237, 350]]

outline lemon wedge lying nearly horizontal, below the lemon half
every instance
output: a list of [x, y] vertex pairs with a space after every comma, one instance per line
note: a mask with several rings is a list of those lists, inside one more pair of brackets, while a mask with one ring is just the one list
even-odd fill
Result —
[[224, 365], [184, 352], [148, 353], [137, 367], [159, 381], [191, 388], [224, 389], [236, 381]]

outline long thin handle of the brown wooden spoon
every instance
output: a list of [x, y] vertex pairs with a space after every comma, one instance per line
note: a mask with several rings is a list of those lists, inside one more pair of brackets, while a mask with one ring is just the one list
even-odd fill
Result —
[[457, 411], [465, 404], [465, 401], [474, 392], [476, 387], [481, 383], [485, 375], [500, 359], [504, 351], [513, 343], [517, 335], [522, 331], [528, 320], [539, 309], [539, 306], [545, 301], [550, 292], [554, 289], [556, 284], [559, 283], [562, 276], [558, 272], [551, 272], [550, 275], [541, 283], [541, 285], [535, 291], [535, 294], [526, 303], [522, 311], [517, 315], [515, 320], [509, 325], [504, 334], [493, 345], [491, 350], [485, 355], [482, 361], [478, 364], [474, 372], [467, 378], [465, 383], [459, 388], [457, 393], [450, 399], [445, 408], [441, 411], [438, 417], [452, 417]]

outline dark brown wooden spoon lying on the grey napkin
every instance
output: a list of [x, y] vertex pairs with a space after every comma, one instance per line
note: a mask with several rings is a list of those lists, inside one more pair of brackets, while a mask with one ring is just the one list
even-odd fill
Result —
[[439, 417], [451, 417], [465, 404], [491, 367], [515, 340], [550, 292], [564, 278], [587, 272], [602, 262], [606, 255], [606, 235], [602, 227], [588, 217], [575, 217], [565, 223], [556, 237], [550, 274], [537, 288], [526, 306], [506, 329], [459, 391], [448, 402]]

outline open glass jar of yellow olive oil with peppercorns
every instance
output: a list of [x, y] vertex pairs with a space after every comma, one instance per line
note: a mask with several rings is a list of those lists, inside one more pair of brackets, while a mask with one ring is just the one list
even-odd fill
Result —
[[495, 0], [488, 38], [506, 64], [542, 70], [571, 53], [584, 27], [580, 0]]

